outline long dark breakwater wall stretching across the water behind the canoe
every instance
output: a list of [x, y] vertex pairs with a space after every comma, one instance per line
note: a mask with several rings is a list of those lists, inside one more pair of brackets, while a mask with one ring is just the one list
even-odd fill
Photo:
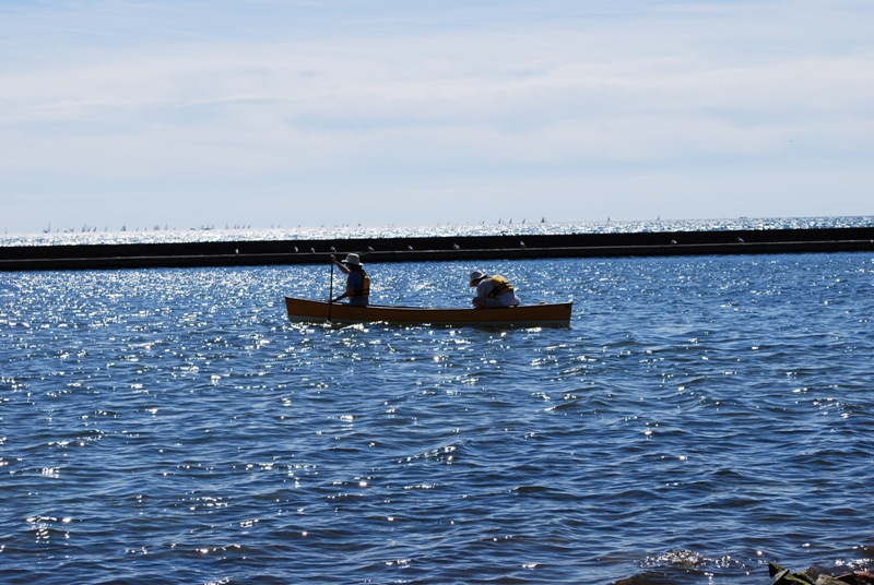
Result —
[[874, 227], [0, 247], [0, 271], [321, 264], [349, 252], [379, 263], [865, 250]]

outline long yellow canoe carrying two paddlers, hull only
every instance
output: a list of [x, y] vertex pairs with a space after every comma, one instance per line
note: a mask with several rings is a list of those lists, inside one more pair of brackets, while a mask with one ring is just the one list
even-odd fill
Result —
[[[570, 302], [557, 305], [522, 305], [501, 309], [420, 309], [415, 307], [352, 307], [320, 300], [285, 297], [288, 319], [292, 321], [333, 323], [371, 323], [382, 321], [399, 324], [432, 325], [507, 325], [543, 326], [569, 325]], [[330, 310], [330, 315], [329, 315]]]

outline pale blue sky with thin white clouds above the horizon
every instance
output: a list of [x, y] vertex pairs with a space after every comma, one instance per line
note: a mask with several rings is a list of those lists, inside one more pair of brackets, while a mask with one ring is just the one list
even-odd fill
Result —
[[872, 0], [0, 0], [0, 228], [874, 215]]

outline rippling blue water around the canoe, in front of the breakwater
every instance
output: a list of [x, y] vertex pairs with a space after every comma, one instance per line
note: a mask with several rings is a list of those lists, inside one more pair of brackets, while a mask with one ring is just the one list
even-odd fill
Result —
[[0, 274], [3, 583], [756, 583], [874, 565], [870, 253], [472, 268], [570, 327], [331, 330], [328, 267]]

